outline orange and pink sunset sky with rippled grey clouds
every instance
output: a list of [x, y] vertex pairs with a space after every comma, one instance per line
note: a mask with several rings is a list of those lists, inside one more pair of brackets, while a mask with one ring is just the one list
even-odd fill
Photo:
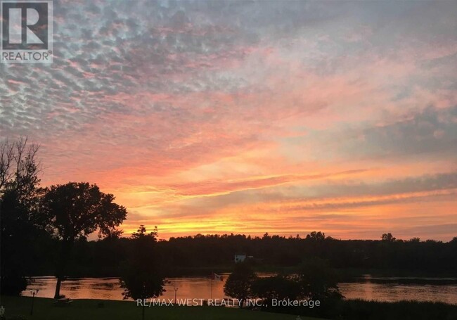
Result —
[[457, 236], [457, 1], [54, 1], [0, 65], [0, 139], [122, 229]]

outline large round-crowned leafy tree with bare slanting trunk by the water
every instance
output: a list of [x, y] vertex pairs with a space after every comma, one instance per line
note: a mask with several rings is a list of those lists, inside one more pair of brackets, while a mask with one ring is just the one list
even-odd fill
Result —
[[117, 226], [124, 221], [127, 210], [113, 200], [112, 194], [103, 193], [98, 186], [87, 182], [46, 188], [40, 212], [46, 219], [46, 229], [61, 243], [56, 268], [56, 299], [60, 297], [60, 284], [75, 240], [95, 231], [101, 238], [120, 233]]

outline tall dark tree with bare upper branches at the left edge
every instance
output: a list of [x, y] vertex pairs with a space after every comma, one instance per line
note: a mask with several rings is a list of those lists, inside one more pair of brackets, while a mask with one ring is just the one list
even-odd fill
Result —
[[27, 286], [37, 238], [34, 212], [39, 198], [39, 146], [27, 138], [0, 142], [0, 291], [19, 295]]

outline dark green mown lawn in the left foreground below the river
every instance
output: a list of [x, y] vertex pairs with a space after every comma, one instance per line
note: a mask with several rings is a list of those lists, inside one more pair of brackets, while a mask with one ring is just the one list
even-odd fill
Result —
[[[0, 297], [0, 305], [5, 308], [6, 320], [141, 320], [141, 307], [136, 302], [112, 300], [75, 300], [71, 305], [56, 307], [53, 300], [43, 297], [34, 298], [33, 316], [30, 316], [31, 297]], [[103, 307], [99, 304], [103, 302]], [[22, 316], [22, 317], [19, 317]], [[145, 319], [160, 320], [295, 320], [290, 314], [274, 314], [227, 307], [146, 307]], [[307, 318], [302, 316], [303, 320]]]

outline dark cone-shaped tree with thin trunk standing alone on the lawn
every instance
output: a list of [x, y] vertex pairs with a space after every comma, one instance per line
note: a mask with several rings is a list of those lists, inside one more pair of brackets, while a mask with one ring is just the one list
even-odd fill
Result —
[[144, 301], [158, 297], [165, 291], [165, 278], [162, 276], [160, 260], [155, 250], [157, 243], [157, 227], [147, 233], [141, 225], [132, 233], [134, 241], [127, 262], [122, 268], [121, 287], [124, 299], [141, 300], [141, 317], [144, 319]]

